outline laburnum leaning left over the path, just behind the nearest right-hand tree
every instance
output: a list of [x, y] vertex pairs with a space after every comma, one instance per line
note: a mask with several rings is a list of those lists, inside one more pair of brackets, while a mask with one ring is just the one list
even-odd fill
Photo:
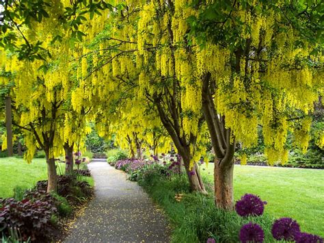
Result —
[[[129, 112], [144, 107], [141, 102], [150, 103], [183, 158], [191, 189], [205, 192], [195, 164], [206, 152], [203, 144], [207, 130], [200, 112], [201, 95], [195, 95], [195, 87], [185, 87], [191, 75], [188, 70], [185, 73], [186, 61], [183, 61], [183, 80], [180, 80], [175, 76], [180, 63], [175, 62], [173, 51], [160, 58], [161, 52], [173, 45], [174, 40], [167, 31], [171, 27], [171, 16], [170, 20], [163, 16], [155, 19], [154, 8], [168, 11], [167, 5], [146, 6], [134, 2], [109, 14], [105, 29], [96, 29], [94, 44], [89, 45], [92, 50], [84, 54], [84, 60], [92, 59], [91, 63], [87, 62], [90, 71], [86, 78], [92, 82], [105, 80], [98, 88], [107, 91], [106, 97], [116, 95], [115, 90], [120, 85], [129, 86], [129, 92], [137, 97]], [[154, 25], [154, 33], [149, 33], [152, 28], [146, 28], [147, 25]], [[144, 36], [150, 42], [145, 43]]]

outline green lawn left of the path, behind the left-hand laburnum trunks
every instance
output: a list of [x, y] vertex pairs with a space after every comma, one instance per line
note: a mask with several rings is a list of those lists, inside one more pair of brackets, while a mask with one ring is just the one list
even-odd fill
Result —
[[[64, 172], [65, 164], [59, 163], [57, 173]], [[0, 197], [14, 196], [14, 188], [33, 188], [37, 181], [47, 179], [45, 159], [33, 159], [31, 164], [16, 157], [0, 158]], [[93, 186], [92, 177], [82, 177]]]

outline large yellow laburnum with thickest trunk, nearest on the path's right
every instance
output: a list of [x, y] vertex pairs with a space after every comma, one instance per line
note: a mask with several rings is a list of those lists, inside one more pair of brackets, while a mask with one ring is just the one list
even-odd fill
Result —
[[187, 2], [175, 10], [216, 154], [215, 203], [232, 209], [235, 141], [253, 146], [262, 127], [269, 164], [287, 161], [288, 131], [307, 150], [323, 88], [320, 1]]

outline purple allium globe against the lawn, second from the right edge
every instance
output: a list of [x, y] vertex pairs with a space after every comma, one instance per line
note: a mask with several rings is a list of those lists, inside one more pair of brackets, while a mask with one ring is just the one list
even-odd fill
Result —
[[300, 229], [292, 218], [280, 218], [273, 223], [271, 233], [275, 240], [293, 241]]

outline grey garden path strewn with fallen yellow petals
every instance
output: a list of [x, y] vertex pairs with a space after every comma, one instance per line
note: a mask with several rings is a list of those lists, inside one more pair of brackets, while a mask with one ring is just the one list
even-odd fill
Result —
[[137, 183], [105, 161], [88, 167], [95, 197], [64, 242], [169, 242], [167, 220]]

